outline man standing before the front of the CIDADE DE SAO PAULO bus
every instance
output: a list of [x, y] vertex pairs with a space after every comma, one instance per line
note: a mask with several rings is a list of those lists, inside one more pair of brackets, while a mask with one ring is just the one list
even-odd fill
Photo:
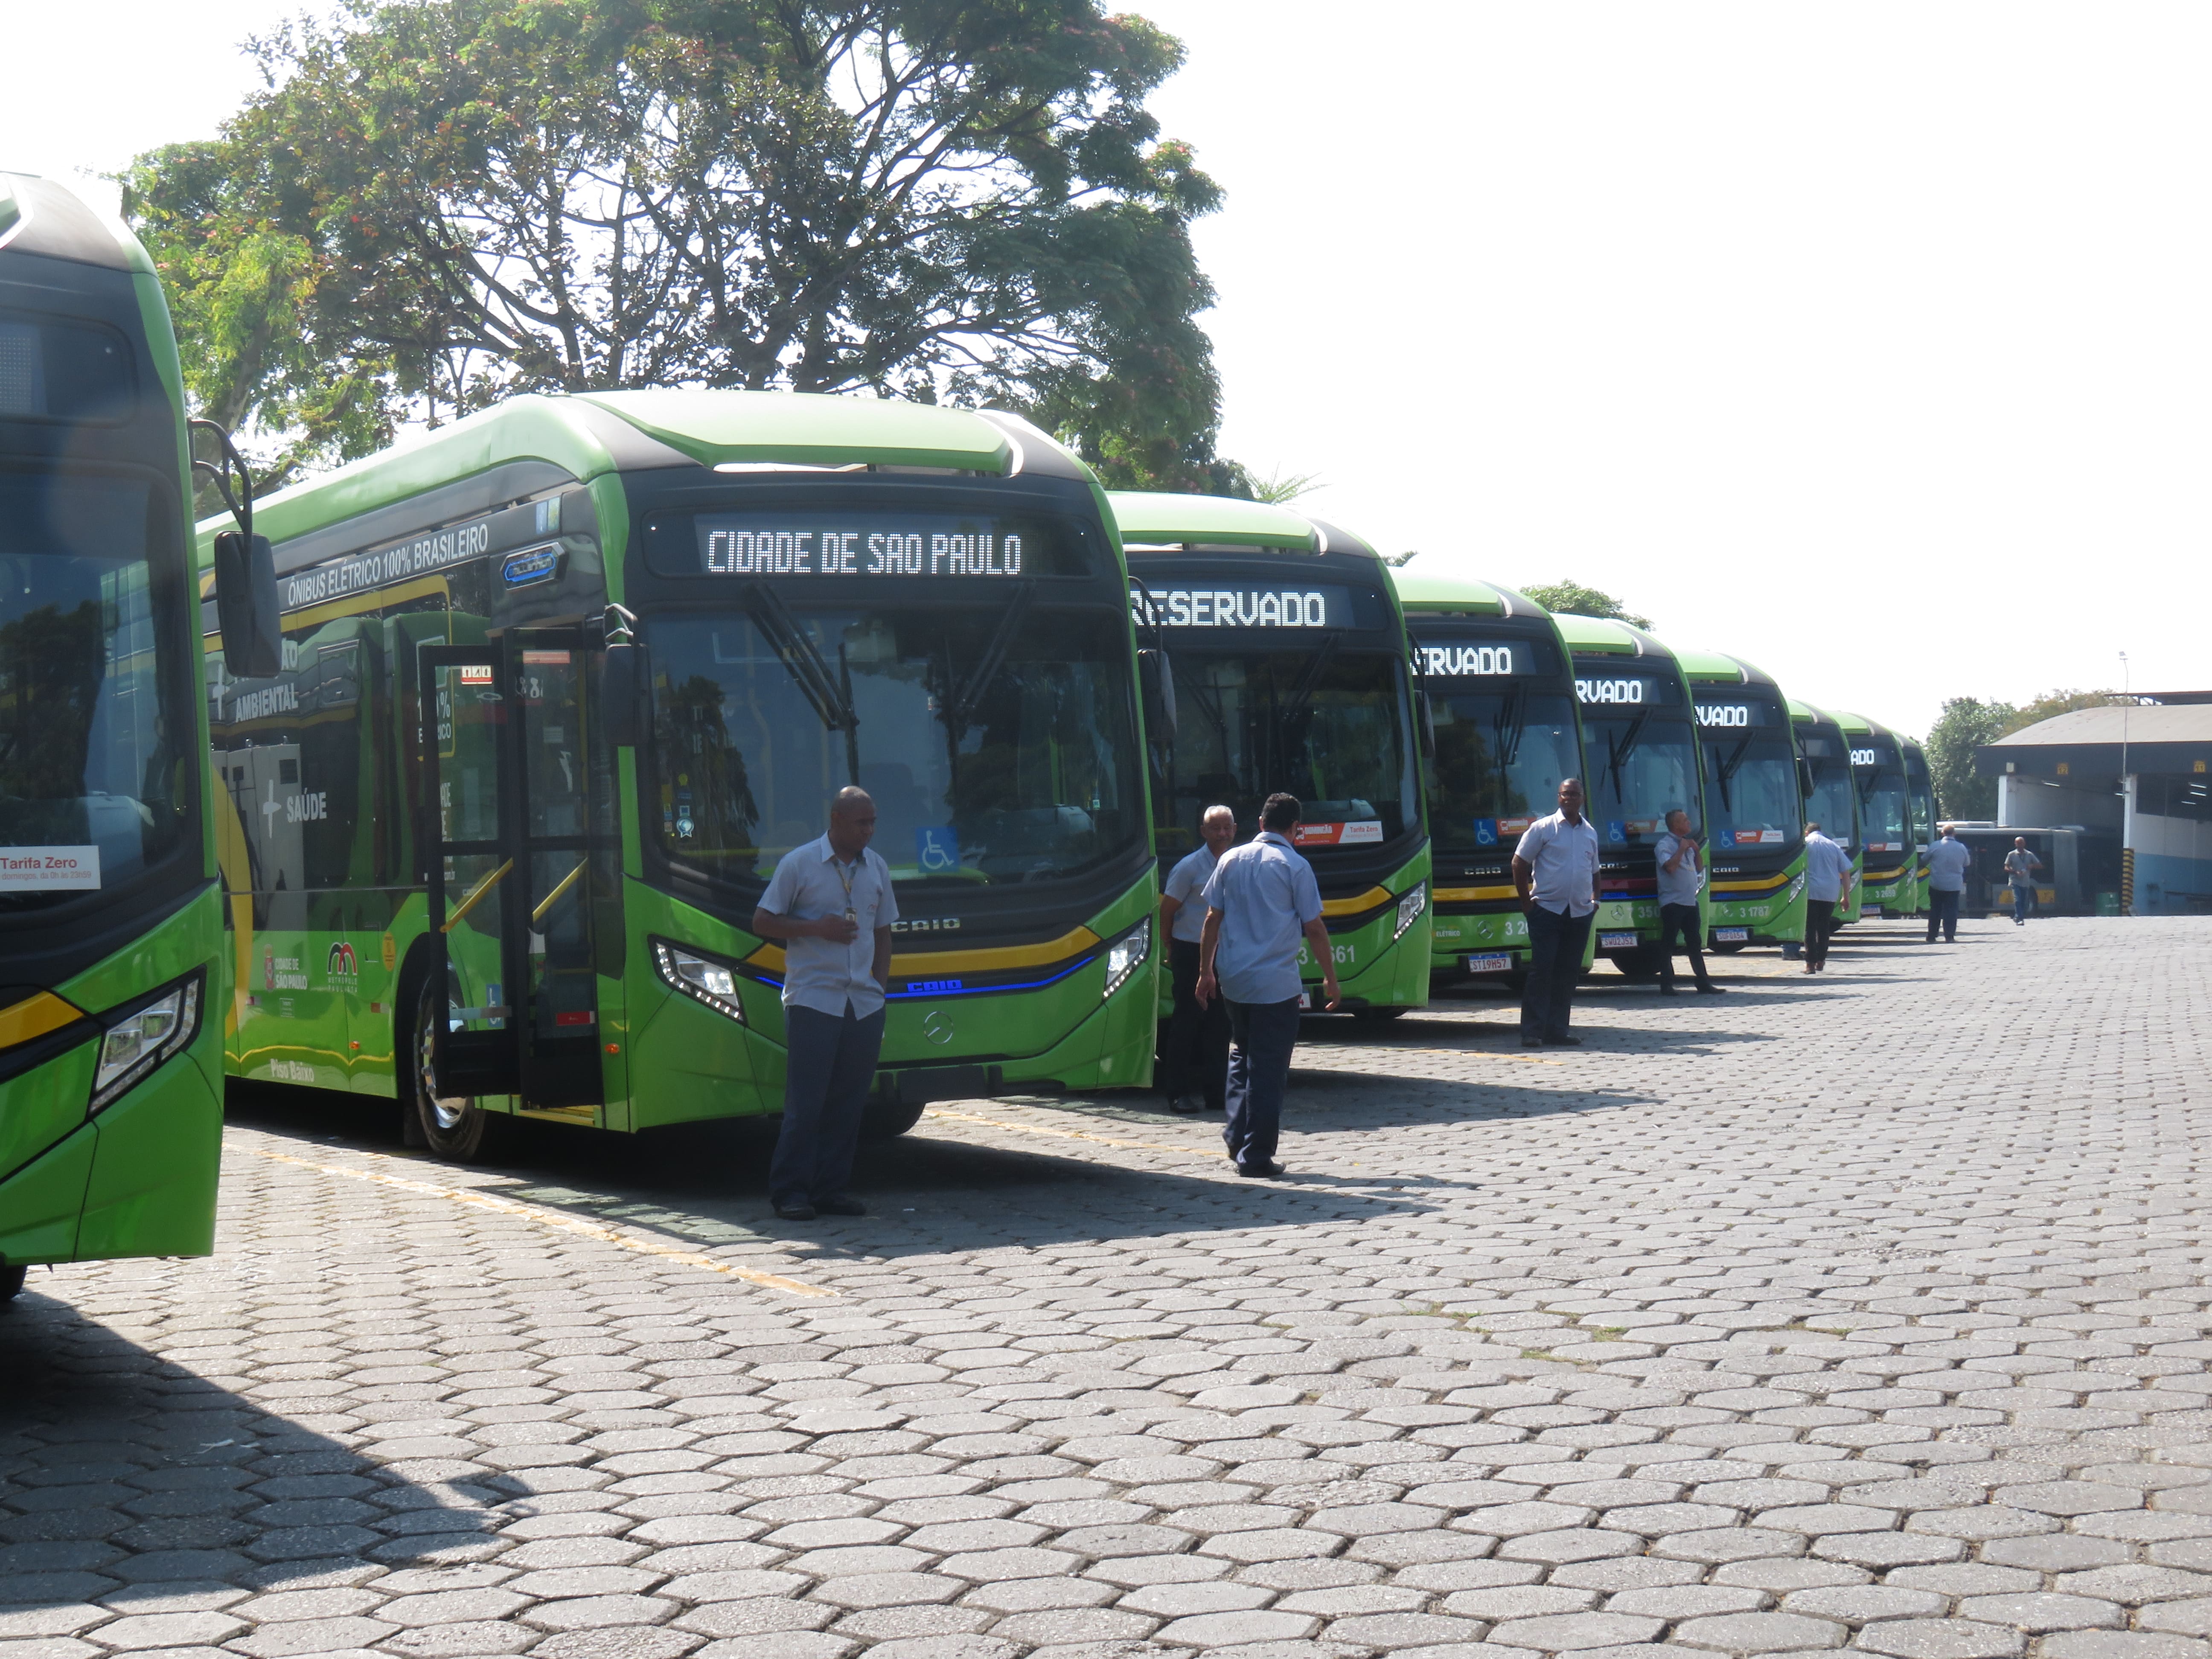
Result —
[[867, 849], [876, 803], [838, 790], [830, 834], [792, 847], [768, 878], [752, 931], [783, 940], [783, 1130], [768, 1197], [785, 1221], [867, 1214], [845, 1192], [860, 1113], [883, 1053], [891, 987], [891, 867]]

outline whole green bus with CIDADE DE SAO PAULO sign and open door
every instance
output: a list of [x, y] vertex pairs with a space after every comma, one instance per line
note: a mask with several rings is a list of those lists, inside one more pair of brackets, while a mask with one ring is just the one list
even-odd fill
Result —
[[845, 785], [891, 867], [867, 1133], [1146, 1084], [1139, 666], [1104, 491], [1015, 416], [522, 396], [257, 509], [283, 666], [210, 657], [228, 1066], [513, 1115], [781, 1108], [776, 860]]

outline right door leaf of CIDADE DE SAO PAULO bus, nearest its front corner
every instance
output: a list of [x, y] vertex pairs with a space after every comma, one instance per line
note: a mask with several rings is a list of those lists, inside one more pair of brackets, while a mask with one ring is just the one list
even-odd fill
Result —
[[[515, 630], [515, 741], [522, 752], [522, 834], [515, 907], [522, 916], [522, 1108], [593, 1119], [599, 1082], [599, 962], [593, 920], [615, 865], [593, 836], [586, 772], [586, 650], [575, 628]], [[597, 792], [597, 794], [604, 794]]]

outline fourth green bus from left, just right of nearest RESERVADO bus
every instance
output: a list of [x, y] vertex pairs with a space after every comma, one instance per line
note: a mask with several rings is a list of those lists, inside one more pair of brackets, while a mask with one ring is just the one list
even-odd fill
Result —
[[1429, 836], [1436, 860], [1436, 984], [1517, 984], [1528, 922], [1513, 891], [1513, 847], [1553, 812], [1559, 779], [1582, 776], [1575, 675], [1551, 613], [1511, 588], [1391, 571], [1427, 699]]

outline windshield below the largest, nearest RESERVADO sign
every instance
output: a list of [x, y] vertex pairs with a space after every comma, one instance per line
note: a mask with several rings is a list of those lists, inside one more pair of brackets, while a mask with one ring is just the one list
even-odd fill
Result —
[[1161, 852], [1197, 845], [1212, 805], [1250, 836], [1276, 790], [1298, 796], [1303, 823], [1345, 825], [1336, 845], [1389, 843], [1420, 823], [1400, 657], [1340, 650], [1318, 675], [1312, 650], [1179, 646], [1170, 659], [1175, 748], [1152, 803]]

